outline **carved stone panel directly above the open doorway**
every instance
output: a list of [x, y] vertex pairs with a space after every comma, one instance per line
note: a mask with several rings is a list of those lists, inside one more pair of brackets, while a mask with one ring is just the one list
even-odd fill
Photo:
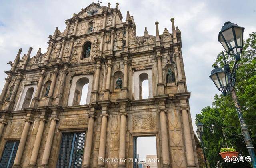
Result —
[[134, 115], [133, 116], [133, 129], [154, 129], [156, 128], [156, 118], [152, 114]]

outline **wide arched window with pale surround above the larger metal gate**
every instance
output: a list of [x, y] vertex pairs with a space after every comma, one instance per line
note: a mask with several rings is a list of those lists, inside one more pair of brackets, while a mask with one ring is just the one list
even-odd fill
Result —
[[[93, 84], [93, 75], [74, 76], [72, 78], [72, 84], [70, 86], [70, 94], [68, 96], [68, 106], [80, 105], [81, 98], [82, 100], [86, 99], [86, 103], [83, 102], [82, 104], [90, 104], [92, 84]], [[87, 90], [87, 92], [84, 92], [85, 90]], [[84, 95], [86, 95], [86, 98], [84, 98]]]

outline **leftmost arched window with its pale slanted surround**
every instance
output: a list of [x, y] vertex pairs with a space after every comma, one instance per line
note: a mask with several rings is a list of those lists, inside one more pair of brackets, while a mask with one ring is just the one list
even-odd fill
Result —
[[28, 108], [35, 96], [37, 84], [26, 85], [22, 89], [18, 102], [16, 104], [15, 110], [22, 110], [23, 108]]

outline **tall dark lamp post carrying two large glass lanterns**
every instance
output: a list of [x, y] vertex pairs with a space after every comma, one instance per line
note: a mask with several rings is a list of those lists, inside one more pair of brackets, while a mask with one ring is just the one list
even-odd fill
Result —
[[234, 90], [234, 86], [236, 84], [236, 70], [238, 68], [237, 62], [241, 59], [240, 54], [243, 49], [243, 32], [244, 28], [238, 26], [237, 24], [231, 22], [224, 23], [224, 26], [222, 26], [221, 31], [219, 32], [218, 41], [222, 44], [228, 54], [234, 56], [236, 61], [231, 71], [230, 66], [226, 63], [224, 53], [222, 52], [225, 63], [224, 70], [222, 70], [222, 68], [219, 68], [218, 66], [214, 66], [214, 69], [212, 70], [212, 73], [209, 77], [212, 79], [218, 90], [222, 92], [224, 96], [231, 93], [234, 104], [236, 106], [236, 112], [238, 113], [241, 130], [244, 136], [244, 142], [250, 154], [252, 165], [254, 166], [254, 168], [256, 168], [254, 147], [248, 128], [244, 121], [244, 117], [240, 104], [238, 102], [238, 98], [236, 96], [236, 92]]

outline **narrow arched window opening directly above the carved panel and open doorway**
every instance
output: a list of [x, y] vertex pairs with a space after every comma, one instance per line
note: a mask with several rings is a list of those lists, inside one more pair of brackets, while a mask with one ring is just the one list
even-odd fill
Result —
[[142, 73], [139, 76], [139, 99], [149, 98], [148, 74]]

